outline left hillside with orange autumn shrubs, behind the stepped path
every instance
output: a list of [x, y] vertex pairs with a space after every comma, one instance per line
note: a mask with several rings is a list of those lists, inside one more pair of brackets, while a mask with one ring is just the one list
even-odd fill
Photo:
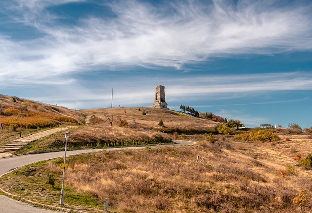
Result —
[[84, 123], [83, 113], [61, 106], [0, 94], [0, 146], [22, 136], [27, 136], [58, 125]]

